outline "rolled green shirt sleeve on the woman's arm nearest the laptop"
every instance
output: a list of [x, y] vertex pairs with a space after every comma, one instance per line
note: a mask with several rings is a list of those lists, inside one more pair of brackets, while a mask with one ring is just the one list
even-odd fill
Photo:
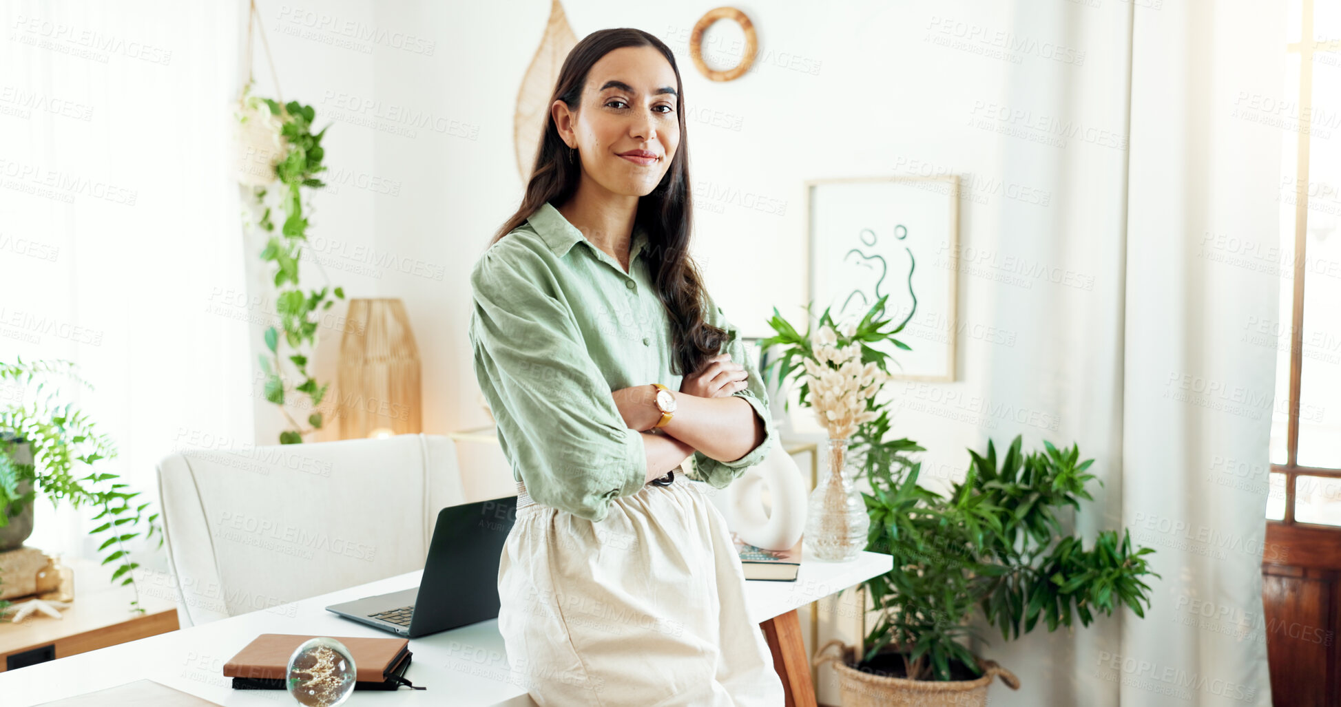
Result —
[[471, 271], [475, 376], [527, 494], [599, 522], [646, 482], [642, 433], [624, 423], [571, 310], [543, 290], [544, 267], [523, 248], [480, 256]]

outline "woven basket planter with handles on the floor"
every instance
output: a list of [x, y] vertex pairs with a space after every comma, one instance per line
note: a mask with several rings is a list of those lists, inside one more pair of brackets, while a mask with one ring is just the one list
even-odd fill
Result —
[[[830, 647], [838, 645], [839, 653], [823, 655]], [[995, 660], [978, 660], [983, 675], [976, 680], [907, 680], [886, 677], [854, 668], [857, 648], [834, 639], [815, 651], [814, 664], [833, 661], [838, 673], [838, 690], [843, 707], [885, 707], [889, 704], [909, 704], [919, 707], [983, 707], [987, 704], [987, 688], [992, 677], [1000, 676], [1011, 690], [1019, 690], [1015, 673], [996, 664]]]

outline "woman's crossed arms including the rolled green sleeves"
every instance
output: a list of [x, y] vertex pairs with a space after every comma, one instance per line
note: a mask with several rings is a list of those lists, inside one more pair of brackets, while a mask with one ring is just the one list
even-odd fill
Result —
[[[599, 522], [616, 498], [636, 494], [685, 459], [693, 459], [696, 479], [724, 488], [768, 453], [767, 389], [754, 369], [730, 362], [748, 365], [721, 307], [708, 302], [705, 321], [728, 333], [725, 353], [713, 357], [727, 361], [683, 377], [675, 417], [657, 433], [644, 432], [660, 419], [654, 386], [649, 381], [611, 393], [577, 315], [540, 284], [557, 267], [546, 252], [503, 239], [471, 271], [476, 380], [514, 476], [536, 502]], [[716, 373], [708, 374], [709, 368]], [[758, 421], [750, 420], [751, 409]], [[760, 423], [767, 427], [756, 443]]]

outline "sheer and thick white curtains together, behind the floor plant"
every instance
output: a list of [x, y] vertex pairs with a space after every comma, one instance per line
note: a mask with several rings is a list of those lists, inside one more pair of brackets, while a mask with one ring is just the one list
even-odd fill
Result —
[[[995, 287], [994, 325], [1021, 335], [994, 356], [990, 397], [1059, 421], [1022, 427], [1026, 447], [1077, 441], [1097, 460], [1105, 487], [1075, 529], [1086, 543], [1128, 530], [1163, 577], [1144, 618], [1124, 609], [1014, 643], [984, 628], [983, 653], [1023, 683], [992, 700], [1271, 704], [1261, 562], [1275, 350], [1240, 334], [1278, 317], [1279, 280], [1212, 251], [1278, 237], [1281, 131], [1234, 109], [1282, 97], [1283, 7], [1022, 3], [1014, 31], [1065, 38], [1084, 64], [1007, 68], [1003, 181], [1043, 189], [1051, 208], [1004, 200], [995, 263], [1055, 278]], [[1227, 479], [1226, 460], [1255, 471]]]

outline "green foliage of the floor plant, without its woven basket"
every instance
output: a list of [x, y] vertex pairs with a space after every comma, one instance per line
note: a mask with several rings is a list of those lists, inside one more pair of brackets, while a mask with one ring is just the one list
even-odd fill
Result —
[[[1002, 639], [1016, 639], [1039, 621], [1047, 631], [1088, 627], [1097, 614], [1110, 616], [1121, 605], [1144, 617], [1155, 576], [1124, 530], [1105, 530], [1086, 549], [1066, 531], [1059, 514], [1092, 500], [1086, 486], [1097, 480], [1078, 461], [1080, 448], [1058, 449], [1045, 441], [1043, 452], [1021, 452], [1016, 436], [999, 460], [991, 440], [986, 453], [970, 451], [972, 464], [948, 495], [917, 484], [920, 463], [907, 452], [919, 451], [908, 440], [868, 445], [866, 478], [872, 492], [862, 494], [870, 515], [868, 550], [889, 553], [894, 567], [865, 582], [876, 610], [861, 657], [869, 667], [916, 680], [959, 680], [980, 675], [963, 639], [976, 610]], [[1102, 482], [1100, 482], [1102, 486]], [[886, 649], [888, 647], [888, 649]], [[884, 655], [882, 655], [884, 651]], [[897, 656], [901, 665], [892, 665]]]

